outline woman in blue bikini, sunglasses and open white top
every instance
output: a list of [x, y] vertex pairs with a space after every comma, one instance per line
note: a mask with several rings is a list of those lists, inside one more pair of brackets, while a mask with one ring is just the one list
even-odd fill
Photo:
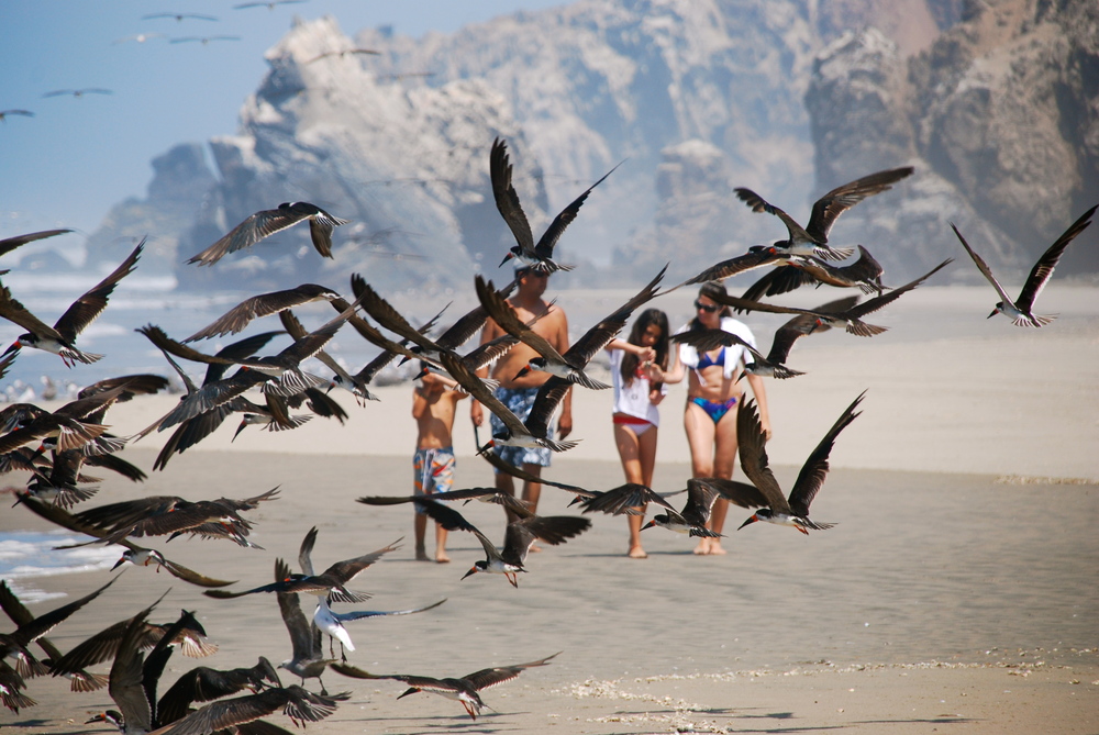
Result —
[[[748, 344], [755, 346], [752, 331], [743, 322], [733, 319], [729, 307], [722, 307], [712, 296], [722, 296], [725, 287], [719, 282], [703, 283], [695, 299], [695, 319], [680, 327], [679, 332], [689, 328], [721, 328], [735, 334]], [[671, 369], [654, 379], [663, 377], [664, 382], [679, 382], [687, 376], [687, 409], [684, 413], [684, 428], [687, 431], [687, 443], [690, 445], [692, 477], [733, 477], [733, 463], [736, 459], [736, 410], [740, 405], [743, 389], [737, 378], [744, 370], [746, 350], [740, 345], [721, 347], [702, 353], [690, 345], [680, 345], [676, 352], [676, 361]], [[759, 421], [767, 437], [770, 437], [770, 416], [767, 413], [767, 393], [763, 379], [747, 376], [748, 386], [759, 407]], [[707, 527], [721, 533], [725, 523], [729, 501], [718, 499], [710, 514]], [[724, 554], [720, 538], [701, 538], [695, 548], [695, 554]]]

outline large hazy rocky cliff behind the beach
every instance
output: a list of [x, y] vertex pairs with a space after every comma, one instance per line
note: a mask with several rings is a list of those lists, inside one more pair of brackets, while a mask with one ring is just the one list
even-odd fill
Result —
[[[359, 270], [387, 289], [465, 288], [512, 242], [488, 180], [500, 135], [535, 233], [621, 164], [560, 241], [586, 266], [562, 286], [668, 260], [670, 280], [782, 236], [733, 187], [803, 220], [823, 191], [904, 164], [917, 176], [845, 214], [837, 242], [866, 244], [899, 282], [958, 254], [953, 221], [993, 268], [1022, 268], [1099, 201], [1097, 15], [1088, 0], [582, 0], [423, 38], [299, 22], [267, 53], [237, 133], [210, 142], [214, 172], [162, 165], [148, 200], [99, 236], [171, 200], [156, 231], [175, 265], [306, 200], [354, 221], [335, 261], [298, 227], [213, 268], [176, 265], [180, 283]], [[380, 54], [349, 53], [363, 47]]]

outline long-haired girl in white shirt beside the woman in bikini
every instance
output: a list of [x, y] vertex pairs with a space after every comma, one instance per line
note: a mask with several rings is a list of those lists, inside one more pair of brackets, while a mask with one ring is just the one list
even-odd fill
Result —
[[[637, 316], [626, 339], [607, 345], [614, 387], [614, 444], [626, 482], [653, 486], [656, 466], [656, 434], [660, 423], [657, 408], [667, 389], [653, 380], [654, 371], [667, 369], [670, 344], [668, 316], [659, 309], [646, 309]], [[633, 559], [648, 555], [641, 546], [644, 515], [628, 515], [630, 552]]]

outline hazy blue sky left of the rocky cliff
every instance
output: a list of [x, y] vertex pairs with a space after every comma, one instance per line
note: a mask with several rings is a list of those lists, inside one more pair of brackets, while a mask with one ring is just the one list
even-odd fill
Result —
[[[0, 1], [0, 111], [34, 113], [0, 121], [0, 237], [54, 227], [91, 234], [112, 204], [144, 197], [154, 156], [177, 143], [235, 133], [242, 102], [267, 70], [264, 52], [286, 34], [295, 15], [332, 15], [348, 36], [379, 25], [421, 36], [566, 4], [308, 0], [273, 10], [233, 8], [243, 2]], [[218, 20], [143, 19], [164, 12]], [[137, 34], [151, 37], [138, 42]], [[240, 41], [169, 43], [215, 35]], [[111, 93], [43, 97], [89, 88]]]

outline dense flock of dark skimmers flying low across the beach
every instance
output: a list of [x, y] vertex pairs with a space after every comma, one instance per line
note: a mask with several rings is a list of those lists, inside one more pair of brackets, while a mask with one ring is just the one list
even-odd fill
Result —
[[[546, 272], [567, 270], [570, 266], [553, 259], [554, 248], [568, 224], [577, 216], [581, 205], [600, 179], [577, 197], [553, 220], [535, 242], [519, 197], [512, 186], [512, 166], [507, 146], [497, 140], [491, 148], [490, 178], [499, 212], [515, 237], [515, 245], [503, 258], [501, 266], [513, 260], [521, 268]], [[175, 339], [155, 324], [136, 330], [148, 338], [165, 356], [186, 385], [187, 391], [179, 403], [151, 426], [133, 437], [118, 436], [104, 423], [106, 413], [114, 403], [135, 396], [154, 393], [167, 386], [162, 376], [130, 375], [102, 380], [82, 389], [78, 398], [55, 411], [29, 403], [18, 403], [0, 412], [0, 470], [30, 474], [25, 487], [14, 493], [16, 504], [71, 532], [91, 537], [85, 544], [116, 544], [125, 550], [115, 568], [126, 564], [154, 566], [175, 577], [203, 588], [215, 599], [235, 599], [251, 594], [275, 594], [282, 620], [289, 633], [291, 658], [277, 667], [260, 657], [251, 668], [213, 670], [197, 667], [184, 673], [167, 691], [157, 697], [162, 672], [178, 648], [184, 656], [201, 657], [215, 649], [207, 641], [206, 632], [192, 613], [174, 622], [149, 622], [157, 603], [136, 611], [132, 617], [119, 621], [101, 633], [63, 654], [45, 637], [69, 615], [77, 613], [108, 589], [113, 580], [80, 600], [56, 608], [41, 615], [32, 615], [5, 583], [0, 583], [0, 606], [11, 617], [15, 628], [0, 634], [0, 699], [14, 711], [32, 706], [34, 701], [25, 693], [27, 680], [36, 676], [64, 676], [71, 680], [74, 691], [92, 691], [108, 687], [118, 710], [111, 710], [89, 722], [116, 725], [123, 735], [144, 733], [171, 735], [200, 735], [212, 732], [270, 734], [287, 731], [263, 717], [281, 711], [295, 724], [314, 722], [332, 714], [348, 693], [330, 694], [321, 676], [329, 669], [360, 679], [393, 679], [408, 689], [401, 697], [414, 692], [432, 692], [458, 701], [469, 714], [476, 716], [486, 706], [480, 692], [488, 687], [503, 683], [532, 667], [545, 666], [557, 654], [545, 658], [482, 669], [458, 678], [434, 678], [407, 673], [375, 675], [347, 661], [345, 652], [354, 652], [347, 624], [378, 615], [418, 614], [445, 602], [440, 600], [421, 608], [398, 611], [351, 610], [337, 612], [334, 605], [356, 604], [367, 595], [348, 586], [365, 569], [398, 548], [389, 544], [375, 552], [329, 566], [318, 573], [311, 559], [317, 541], [317, 528], [304, 537], [299, 552], [300, 572], [292, 572], [282, 559], [277, 559], [274, 581], [230, 591], [234, 582], [214, 579], [173, 561], [156, 549], [138, 545], [145, 538], [179, 535], [232, 542], [245, 548], [259, 548], [249, 537], [253, 523], [248, 512], [262, 503], [276, 502], [279, 489], [270, 489], [252, 498], [189, 501], [169, 495], [151, 495], [118, 503], [76, 511], [76, 506], [95, 497], [98, 480], [86, 474], [91, 468], [111, 470], [140, 482], [146, 475], [125, 461], [119, 452], [130, 439], [173, 430], [154, 465], [164, 470], [175, 454], [185, 452], [209, 436], [233, 414], [242, 414], [237, 433], [249, 425], [262, 425], [268, 431], [293, 430], [313, 415], [335, 419], [343, 423], [346, 411], [333, 400], [335, 388], [351, 392], [359, 405], [377, 400], [369, 387], [381, 367], [397, 358], [419, 360], [424, 370], [449, 375], [476, 400], [482, 402], [503, 422], [504, 428], [479, 446], [485, 459], [500, 471], [520, 479], [532, 479], [521, 468], [511, 467], [496, 454], [496, 447], [541, 446], [554, 452], [565, 452], [575, 446], [573, 441], [554, 441], [547, 428], [560, 400], [567, 391], [608, 388], [587, 375], [589, 361], [618, 335], [639, 308], [677, 288], [724, 280], [751, 269], [768, 268], [766, 275], [741, 297], [715, 299], [739, 311], [765, 311], [792, 314], [780, 327], [767, 355], [752, 348], [754, 357], [746, 365], [748, 372], [774, 378], [791, 378], [801, 372], [786, 366], [797, 339], [832, 327], [843, 327], [858, 336], [873, 336], [886, 327], [867, 324], [864, 318], [891, 303], [903, 293], [919, 287], [928, 278], [951, 263], [945, 260], [931, 271], [898, 288], [882, 285], [882, 269], [870, 253], [859, 246], [858, 258], [850, 265], [834, 265], [851, 255], [848, 248], [829, 243], [835, 220], [847, 209], [866, 197], [880, 193], [912, 174], [911, 168], [898, 168], [863, 177], [828, 192], [813, 205], [807, 226], [802, 227], [785, 211], [769, 204], [747, 189], [737, 189], [736, 196], [757, 212], [774, 214], [786, 225], [788, 237], [767, 246], [756, 246], [729, 260], [706, 268], [684, 283], [660, 290], [665, 270], [642, 288], [632, 299], [613, 310], [577, 338], [563, 354], [555, 350], [534, 328], [534, 321], [523, 323], [511, 309], [508, 297], [517, 287], [512, 281], [497, 288], [481, 276], [475, 279], [478, 305], [459, 318], [452, 326], [435, 337], [429, 336], [440, 316], [419, 327], [398, 312], [364, 278], [353, 275], [353, 299], [348, 301], [334, 289], [306, 283], [296, 288], [264, 293], [249, 298], [230, 310], [214, 323], [207, 325], [184, 339]], [[1090, 224], [1092, 207], [1076, 221], [1039, 259], [1018, 298], [1011, 299], [992, 276], [980, 256], [954, 229], [964, 249], [978, 269], [990, 281], [999, 302], [989, 316], [1003, 313], [1015, 324], [1040, 327], [1052, 316], [1035, 314], [1035, 301], [1048, 281], [1065, 248]], [[189, 263], [213, 266], [222, 257], [253, 247], [265, 237], [307, 222], [317, 252], [332, 258], [332, 235], [335, 227], [346, 223], [319, 207], [307, 202], [285, 203], [253, 214], [232, 232], [195, 255]], [[31, 233], [0, 241], [0, 256], [16, 247], [47, 238], [63, 230]], [[141, 258], [144, 241], [119, 267], [77, 299], [51, 326], [32, 314], [0, 285], [0, 316], [26, 330], [0, 357], [0, 372], [7, 370], [24, 348], [37, 348], [58, 355], [67, 366], [89, 364], [102, 356], [81, 349], [77, 343], [80, 333], [103, 312], [108, 299], [118, 283], [134, 270]], [[7, 272], [7, 271], [3, 271]], [[833, 301], [813, 309], [777, 307], [761, 301], [767, 296], [784, 293], [806, 285], [821, 285], [861, 291], [859, 296]], [[862, 294], [874, 294], [859, 303]], [[336, 316], [319, 327], [308, 331], [295, 316], [293, 309], [313, 301], [328, 301]], [[278, 314], [282, 331], [271, 331], [249, 336], [230, 344], [217, 354], [202, 353], [191, 343], [213, 337], [237, 334], [254, 320]], [[371, 323], [377, 322], [379, 326]], [[495, 320], [506, 332], [503, 337], [468, 352], [463, 345], [480, 331], [487, 319]], [[324, 348], [345, 325], [381, 349], [378, 358], [352, 374], [333, 360]], [[387, 336], [385, 332], [391, 333]], [[277, 353], [267, 350], [276, 337], [289, 334], [292, 342]], [[711, 350], [719, 345], [741, 344], [740, 339], [720, 330], [689, 330], [676, 335], [677, 342]], [[492, 364], [504, 352], [523, 342], [539, 353], [525, 370], [550, 374], [540, 389], [529, 417], [520, 419], [508, 410], [493, 394], [491, 380], [479, 378], [477, 371]], [[256, 356], [258, 353], [266, 354]], [[334, 377], [325, 378], [310, 372], [307, 360], [317, 358], [328, 366]], [[177, 360], [189, 360], [207, 366], [201, 385], [197, 385]], [[253, 392], [253, 398], [246, 394]], [[677, 509], [668, 498], [652, 488], [626, 483], [608, 491], [595, 491], [579, 486], [542, 478], [542, 482], [560, 488], [575, 495], [584, 513], [642, 514], [647, 503], [660, 506], [648, 526], [663, 526], [691, 536], [712, 536], [707, 528], [711, 508], [719, 498], [736, 505], [752, 509], [753, 513], [741, 527], [755, 522], [791, 526], [808, 534], [810, 531], [830, 528], [833, 524], [810, 519], [810, 505], [824, 485], [829, 471], [829, 455], [843, 430], [858, 415], [865, 396], [855, 398], [843, 411], [821, 442], [806, 460], [789, 493], [784, 493], [771, 472], [766, 452], [766, 434], [753, 401], [740, 409], [736, 426], [740, 437], [740, 460], [750, 482], [722, 478], [695, 478], [687, 481], [685, 504]], [[307, 407], [310, 413], [293, 414]], [[37, 444], [37, 448], [31, 447]], [[479, 444], [479, 439], [478, 439]], [[675, 494], [675, 493], [671, 493]], [[462, 513], [443, 501], [482, 501], [502, 504], [509, 522], [504, 530], [502, 547], [469, 523]], [[528, 571], [526, 556], [531, 546], [541, 541], [556, 545], [576, 538], [590, 528], [584, 515], [539, 516], [523, 502], [495, 489], [468, 488], [436, 493], [431, 497], [364, 497], [359, 502], [369, 505], [414, 503], [418, 509], [451, 531], [473, 534], [485, 550], [466, 572], [466, 577], [486, 572], [503, 576], [519, 587], [519, 575]], [[302, 611], [299, 595], [315, 598], [310, 616]], [[323, 636], [329, 636], [328, 652]], [[341, 654], [334, 650], [338, 642]], [[40, 660], [32, 653], [33, 644], [44, 652]], [[146, 653], [147, 652], [147, 653]], [[12, 662], [9, 664], [9, 659]], [[108, 675], [89, 671], [98, 664], [112, 661]], [[278, 670], [300, 678], [301, 683], [284, 686]], [[320, 692], [306, 689], [309, 679], [318, 679]], [[232, 697], [248, 691], [244, 695]], [[227, 699], [226, 699], [227, 698]], [[208, 703], [209, 702], [209, 703]]]

